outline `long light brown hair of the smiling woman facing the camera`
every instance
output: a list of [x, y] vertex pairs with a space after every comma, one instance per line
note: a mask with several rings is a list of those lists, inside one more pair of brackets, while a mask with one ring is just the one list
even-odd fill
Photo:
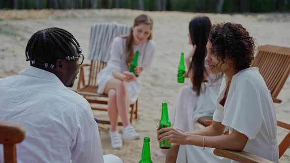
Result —
[[[141, 24], [145, 24], [145, 25], [149, 25], [150, 26], [151, 32], [150, 32], [150, 35], [149, 35], [147, 40], [152, 39], [153, 20], [148, 15], [141, 14], [141, 15], [139, 15], [139, 16], [137, 16], [135, 18], [133, 27], [139, 26]], [[134, 58], [134, 52], [133, 52], [133, 47], [134, 47], [134, 45], [133, 45], [133, 42], [134, 42], [133, 27], [130, 28], [130, 33], [120, 36], [121, 38], [126, 38], [126, 64], [127, 65], [128, 65], [128, 63], [131, 63], [133, 58]]]

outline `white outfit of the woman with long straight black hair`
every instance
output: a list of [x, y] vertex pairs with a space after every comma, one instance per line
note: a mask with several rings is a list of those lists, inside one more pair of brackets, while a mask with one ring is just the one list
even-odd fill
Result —
[[222, 73], [210, 73], [206, 79], [208, 82], [202, 83], [199, 96], [193, 90], [191, 82], [191, 85], [182, 86], [173, 107], [169, 108], [169, 118], [173, 127], [193, 132], [199, 118], [213, 116], [222, 79]]

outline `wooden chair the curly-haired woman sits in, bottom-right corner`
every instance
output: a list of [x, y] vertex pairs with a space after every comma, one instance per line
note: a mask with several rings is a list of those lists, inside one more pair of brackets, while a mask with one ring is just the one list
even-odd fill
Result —
[[[290, 124], [277, 121], [277, 126], [290, 131]], [[284, 137], [284, 139], [279, 144], [279, 158], [281, 158], [281, 156], [285, 153], [288, 147], [290, 147], [290, 132], [287, 134], [287, 136]], [[266, 160], [264, 158], [261, 158], [259, 156], [253, 155], [245, 151], [237, 152], [232, 150], [215, 149], [213, 153], [216, 156], [225, 157], [240, 163], [273, 163], [269, 160]]]

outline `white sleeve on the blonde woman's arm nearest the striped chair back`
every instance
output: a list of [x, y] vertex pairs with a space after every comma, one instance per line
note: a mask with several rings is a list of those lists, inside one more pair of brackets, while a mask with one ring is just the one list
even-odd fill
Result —
[[110, 59], [108, 61], [108, 66], [110, 66], [112, 72], [121, 71], [121, 55], [124, 52], [122, 44], [122, 38], [120, 37], [114, 38], [112, 42]]

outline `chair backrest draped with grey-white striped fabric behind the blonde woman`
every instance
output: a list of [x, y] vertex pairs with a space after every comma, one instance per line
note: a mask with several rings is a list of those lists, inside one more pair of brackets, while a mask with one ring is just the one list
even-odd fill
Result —
[[119, 35], [128, 34], [129, 31], [129, 26], [116, 23], [91, 26], [88, 54], [91, 63], [88, 85], [97, 86], [97, 74], [107, 65], [113, 39]]

